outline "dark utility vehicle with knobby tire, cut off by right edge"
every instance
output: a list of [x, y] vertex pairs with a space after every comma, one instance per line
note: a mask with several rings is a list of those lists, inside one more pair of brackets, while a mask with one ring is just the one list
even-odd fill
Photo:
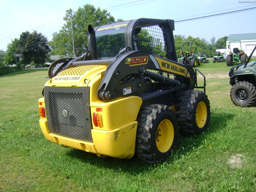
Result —
[[230, 97], [233, 104], [240, 107], [256, 104], [256, 61], [249, 63], [255, 49], [256, 46], [245, 63], [238, 64], [229, 71], [232, 85]]

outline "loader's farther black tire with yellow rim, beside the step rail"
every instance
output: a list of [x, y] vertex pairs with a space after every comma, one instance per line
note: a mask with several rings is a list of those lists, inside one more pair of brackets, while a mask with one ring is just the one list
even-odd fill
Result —
[[181, 133], [195, 135], [207, 130], [210, 122], [210, 102], [203, 91], [187, 90], [178, 99], [176, 117]]

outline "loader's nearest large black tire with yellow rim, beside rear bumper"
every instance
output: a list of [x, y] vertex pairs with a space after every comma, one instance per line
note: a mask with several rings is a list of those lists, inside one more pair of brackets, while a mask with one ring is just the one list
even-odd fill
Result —
[[179, 141], [178, 121], [171, 108], [149, 105], [139, 112], [137, 121], [137, 158], [152, 164], [167, 159]]

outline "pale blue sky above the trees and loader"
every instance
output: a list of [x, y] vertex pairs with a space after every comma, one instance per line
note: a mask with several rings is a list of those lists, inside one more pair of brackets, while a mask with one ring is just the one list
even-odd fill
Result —
[[[6, 51], [8, 43], [26, 31], [41, 32], [51, 40], [65, 24], [66, 10], [77, 11], [87, 3], [106, 9], [115, 19], [173, 19], [174, 34], [208, 42], [213, 37], [256, 33], [256, 0], [0, 0], [0, 50]], [[233, 12], [238, 10], [243, 11]], [[222, 13], [228, 14], [217, 15]]]

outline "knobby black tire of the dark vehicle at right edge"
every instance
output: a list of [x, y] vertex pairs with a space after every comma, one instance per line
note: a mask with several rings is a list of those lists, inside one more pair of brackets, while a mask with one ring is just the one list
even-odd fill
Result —
[[239, 81], [230, 90], [233, 104], [240, 107], [251, 107], [256, 104], [256, 88], [247, 81]]

